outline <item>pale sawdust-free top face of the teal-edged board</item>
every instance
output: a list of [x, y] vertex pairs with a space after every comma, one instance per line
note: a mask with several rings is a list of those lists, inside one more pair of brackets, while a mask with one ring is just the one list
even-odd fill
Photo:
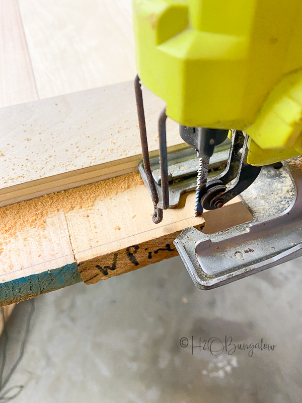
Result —
[[[0, 242], [1, 282], [26, 278], [74, 262], [63, 213], [59, 212], [50, 217], [45, 214], [43, 231], [41, 227], [28, 223], [25, 211], [23, 214], [24, 216], [21, 217], [11, 215], [12, 220], [15, 221], [12, 225], [17, 226], [18, 231], [12, 229], [9, 237], [7, 227], [0, 226], [4, 230]], [[22, 222], [21, 225], [19, 220]], [[21, 245], [26, 253], [19, 252]], [[18, 277], [16, 277], [16, 270], [20, 271]]]

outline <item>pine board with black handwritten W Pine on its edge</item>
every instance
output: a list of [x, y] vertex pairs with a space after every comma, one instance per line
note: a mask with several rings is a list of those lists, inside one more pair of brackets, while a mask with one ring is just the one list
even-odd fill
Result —
[[88, 209], [66, 214], [74, 257], [85, 284], [176, 256], [174, 239], [187, 227], [213, 233], [252, 220], [237, 197], [221, 210], [194, 217], [195, 194], [184, 195], [177, 209], [152, 222], [153, 204], [144, 185], [96, 200]]

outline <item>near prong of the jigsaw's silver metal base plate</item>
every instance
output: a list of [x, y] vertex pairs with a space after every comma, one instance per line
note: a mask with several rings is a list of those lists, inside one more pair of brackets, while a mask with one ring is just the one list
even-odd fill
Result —
[[[296, 165], [295, 165], [296, 164]], [[262, 167], [241, 194], [253, 221], [206, 235], [186, 228], [174, 244], [203, 290], [261, 272], [302, 255], [302, 172], [297, 160]]]

